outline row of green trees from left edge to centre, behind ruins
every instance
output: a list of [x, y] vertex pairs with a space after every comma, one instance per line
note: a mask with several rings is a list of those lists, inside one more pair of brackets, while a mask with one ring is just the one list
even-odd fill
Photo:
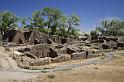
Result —
[[34, 11], [32, 17], [18, 17], [11, 11], [4, 10], [0, 12], [0, 32], [2, 38], [8, 30], [19, 28], [21, 29], [38, 29], [40, 32], [50, 35], [60, 35], [62, 37], [78, 37], [78, 26], [80, 17], [71, 14], [66, 16], [57, 8], [43, 8]]

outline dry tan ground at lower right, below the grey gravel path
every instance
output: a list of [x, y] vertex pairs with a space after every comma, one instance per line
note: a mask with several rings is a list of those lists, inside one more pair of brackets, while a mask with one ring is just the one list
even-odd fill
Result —
[[37, 80], [40, 80], [39, 82], [124, 82], [124, 55], [103, 65], [90, 65], [72, 71], [39, 75]]

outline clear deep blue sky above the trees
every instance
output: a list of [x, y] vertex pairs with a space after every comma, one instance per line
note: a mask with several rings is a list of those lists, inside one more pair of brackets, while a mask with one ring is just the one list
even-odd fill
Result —
[[81, 31], [95, 28], [99, 19], [124, 19], [124, 0], [0, 0], [0, 11], [10, 10], [17, 16], [31, 17], [32, 12], [44, 7], [59, 8], [65, 14], [81, 17]]

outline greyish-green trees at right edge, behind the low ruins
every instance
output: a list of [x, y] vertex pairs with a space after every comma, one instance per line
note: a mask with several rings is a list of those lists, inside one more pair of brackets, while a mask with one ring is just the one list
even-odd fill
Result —
[[94, 31], [91, 31], [91, 35], [96, 34], [104, 36], [124, 36], [124, 20], [115, 17], [105, 18], [100, 21], [100, 25]]

